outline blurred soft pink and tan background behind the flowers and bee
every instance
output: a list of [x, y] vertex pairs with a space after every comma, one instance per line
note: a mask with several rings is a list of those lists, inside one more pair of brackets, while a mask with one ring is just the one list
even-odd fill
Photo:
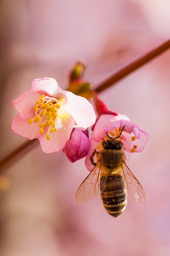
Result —
[[[1, 0], [1, 157], [26, 141], [12, 133], [12, 99], [32, 80], [53, 77], [64, 89], [69, 69], [87, 61], [94, 85], [169, 39], [168, 0]], [[84, 160], [36, 146], [6, 166], [0, 180], [1, 256], [170, 255], [170, 51], [100, 94], [150, 134], [129, 167], [146, 190], [146, 204], [128, 198], [114, 219], [100, 198], [75, 204], [87, 176]]]

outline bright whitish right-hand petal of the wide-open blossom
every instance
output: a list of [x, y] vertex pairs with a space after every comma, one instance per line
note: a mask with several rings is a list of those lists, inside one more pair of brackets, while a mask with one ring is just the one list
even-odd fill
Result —
[[93, 105], [87, 99], [72, 92], [65, 91], [65, 93], [67, 95], [67, 104], [64, 109], [73, 117], [76, 126], [81, 130], [92, 126], [96, 120]]

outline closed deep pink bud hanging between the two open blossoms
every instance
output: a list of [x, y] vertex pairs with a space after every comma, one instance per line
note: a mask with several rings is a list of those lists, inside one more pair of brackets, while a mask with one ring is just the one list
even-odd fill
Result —
[[81, 131], [76, 128], [71, 132], [71, 136], [63, 149], [70, 162], [75, 162], [87, 156], [90, 149], [88, 130]]

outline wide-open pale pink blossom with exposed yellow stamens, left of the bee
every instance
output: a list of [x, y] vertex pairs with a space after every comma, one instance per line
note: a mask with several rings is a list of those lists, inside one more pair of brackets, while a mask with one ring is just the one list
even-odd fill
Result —
[[73, 128], [86, 130], [95, 122], [89, 101], [63, 91], [53, 78], [34, 80], [31, 89], [12, 102], [18, 111], [12, 131], [30, 140], [38, 138], [45, 153], [62, 150]]

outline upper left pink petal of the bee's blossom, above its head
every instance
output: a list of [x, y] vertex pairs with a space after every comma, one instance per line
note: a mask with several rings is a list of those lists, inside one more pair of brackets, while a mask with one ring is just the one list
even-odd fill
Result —
[[101, 115], [95, 124], [91, 138], [97, 142], [105, 138], [107, 132], [111, 132], [115, 128], [119, 128], [121, 120], [114, 115]]

